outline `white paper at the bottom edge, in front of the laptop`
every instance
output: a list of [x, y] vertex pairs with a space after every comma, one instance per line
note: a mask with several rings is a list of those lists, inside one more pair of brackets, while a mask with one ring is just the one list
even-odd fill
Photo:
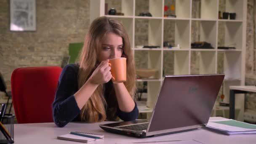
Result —
[[133, 142], [123, 144], [203, 144], [200, 141], [194, 139], [189, 140], [172, 140], [172, 141], [146, 141], [146, 142]]

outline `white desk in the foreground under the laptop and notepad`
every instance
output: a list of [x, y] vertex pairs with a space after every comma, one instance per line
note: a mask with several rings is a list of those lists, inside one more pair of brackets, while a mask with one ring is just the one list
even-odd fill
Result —
[[[211, 119], [223, 119], [211, 117]], [[111, 123], [111, 122], [102, 122]], [[256, 135], [227, 136], [206, 129], [197, 129], [182, 133], [174, 133], [151, 138], [135, 138], [114, 133], [107, 133], [99, 127], [102, 123], [69, 123], [64, 128], [58, 128], [54, 123], [15, 124], [15, 144], [82, 144], [79, 142], [56, 139], [57, 136], [70, 131], [83, 131], [104, 134], [103, 140], [91, 141], [88, 144], [123, 144], [129, 142], [169, 141], [182, 139], [195, 139], [204, 144], [256, 144]], [[173, 143], [171, 143], [173, 144]]]

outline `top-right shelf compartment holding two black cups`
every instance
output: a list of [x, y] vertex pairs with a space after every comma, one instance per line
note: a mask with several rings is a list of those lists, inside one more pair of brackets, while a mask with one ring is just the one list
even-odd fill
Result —
[[[236, 13], [237, 20], [243, 20], [243, 2], [244, 0], [219, 0], [219, 10], [221, 11], [221, 17], [223, 12]], [[224, 9], [221, 6], [224, 5]]]

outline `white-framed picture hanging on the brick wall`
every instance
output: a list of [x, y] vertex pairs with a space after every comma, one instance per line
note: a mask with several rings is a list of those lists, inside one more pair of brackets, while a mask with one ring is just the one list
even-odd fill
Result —
[[10, 0], [10, 30], [36, 30], [35, 0]]

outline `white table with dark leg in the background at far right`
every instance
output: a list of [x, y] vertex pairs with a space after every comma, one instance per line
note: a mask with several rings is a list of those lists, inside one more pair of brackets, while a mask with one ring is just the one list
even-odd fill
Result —
[[235, 120], [235, 94], [236, 93], [256, 93], [255, 85], [229, 86], [229, 118]]

